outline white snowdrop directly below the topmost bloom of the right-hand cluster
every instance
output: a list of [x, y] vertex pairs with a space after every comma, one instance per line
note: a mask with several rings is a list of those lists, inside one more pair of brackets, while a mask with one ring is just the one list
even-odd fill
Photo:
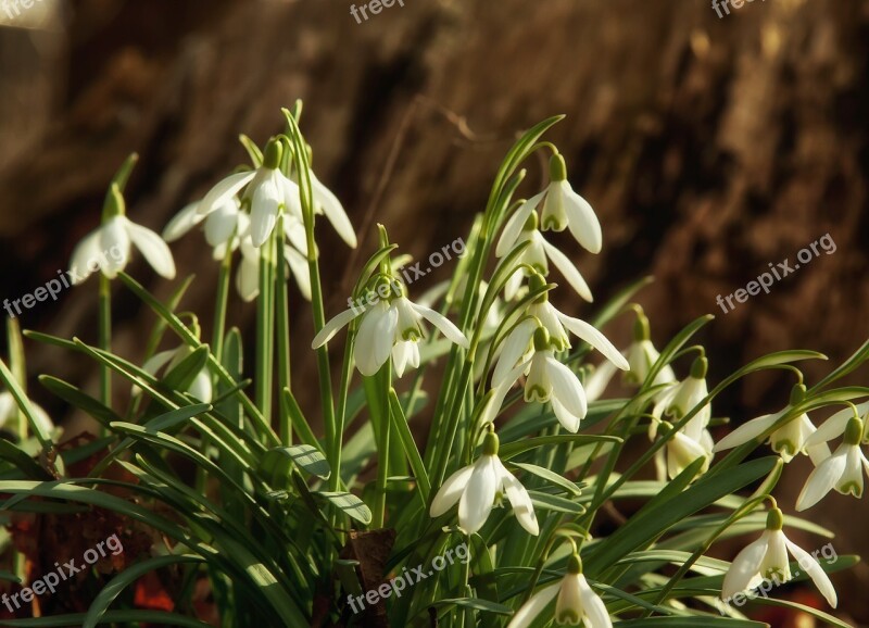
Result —
[[[527, 265], [541, 275], [546, 276], [549, 275], [549, 261], [552, 261], [580, 298], [590, 303], [593, 301], [589, 285], [585, 282], [585, 279], [582, 278], [582, 275], [574, 263], [567, 255], [543, 239], [543, 236], [540, 234], [533, 199], [526, 201], [511, 219], [507, 221], [504, 231], [501, 234], [501, 238], [498, 241], [498, 247], [495, 247], [495, 255], [503, 258], [514, 248], [526, 241], [529, 241], [530, 244], [522, 251], [519, 259], [516, 260], [517, 266]], [[529, 272], [526, 268], [517, 267], [513, 275], [511, 275], [504, 287], [504, 297], [507, 301], [512, 301], [516, 297], [521, 287], [522, 275], [528, 274]]]

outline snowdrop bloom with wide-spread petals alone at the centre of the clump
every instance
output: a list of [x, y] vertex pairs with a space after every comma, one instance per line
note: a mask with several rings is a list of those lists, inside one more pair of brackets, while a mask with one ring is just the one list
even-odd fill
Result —
[[[371, 376], [392, 355], [396, 374], [401, 377], [407, 365], [419, 365], [416, 343], [424, 337], [421, 323], [425, 318], [437, 327], [449, 340], [467, 349], [465, 335], [446, 317], [430, 307], [414, 303], [405, 296], [405, 287], [394, 277], [381, 276], [373, 292], [379, 296], [368, 307], [351, 306], [341, 312], [316, 335], [311, 343], [317, 349], [328, 342], [339, 329], [362, 316], [353, 359], [365, 376]], [[368, 301], [370, 303], [370, 299]]]

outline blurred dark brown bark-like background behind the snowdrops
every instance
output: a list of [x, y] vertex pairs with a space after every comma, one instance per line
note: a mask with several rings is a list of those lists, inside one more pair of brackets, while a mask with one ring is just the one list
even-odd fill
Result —
[[[839, 362], [866, 340], [869, 1], [756, 0], [719, 18], [703, 0], [405, 0], [361, 24], [350, 4], [41, 0], [11, 16], [0, 8], [2, 298], [66, 267], [129, 152], [141, 155], [129, 214], [160, 230], [244, 160], [239, 133], [262, 143], [281, 128], [279, 108], [302, 98], [315, 169], [348, 208], [358, 255], [371, 251], [374, 222], [417, 256], [464, 236], [516, 134], [565, 113], [550, 139], [601, 217], [604, 251], [576, 256], [599, 303], [653, 274], [640, 302], [659, 347], [717, 314], [702, 337], [713, 381], [769, 351], [815, 349]], [[530, 166], [526, 193], [541, 181]], [[322, 233], [336, 313], [358, 259]], [[828, 233], [835, 252], [770, 294], [728, 314], [716, 304]], [[191, 234], [173, 250], [180, 274], [202, 279], [185, 309], [209, 312], [216, 266], [204, 240]], [[134, 275], [167, 294], [172, 286], [137, 260]], [[23, 326], [95, 339], [96, 288], [39, 303]], [[589, 312], [564, 293], [558, 304]], [[236, 300], [230, 321], [243, 326], [252, 313]], [[121, 294], [115, 314], [116, 348], [135, 359], [152, 317]], [[293, 334], [304, 347], [313, 334], [300, 314]], [[621, 322], [608, 334], [628, 341]], [[32, 372], [96, 386], [81, 363], [28, 349]], [[293, 360], [297, 373], [310, 364]], [[827, 369], [806, 364], [808, 382]], [[866, 385], [866, 369], [851, 381]], [[778, 410], [791, 384], [751, 378], [716, 415]], [[316, 401], [304, 401], [315, 413]], [[807, 473], [789, 467], [782, 504]], [[867, 500], [833, 497], [811, 515], [840, 535], [840, 553], [869, 556]], [[861, 565], [836, 577], [843, 617], [869, 621], [858, 593], [868, 575]]]

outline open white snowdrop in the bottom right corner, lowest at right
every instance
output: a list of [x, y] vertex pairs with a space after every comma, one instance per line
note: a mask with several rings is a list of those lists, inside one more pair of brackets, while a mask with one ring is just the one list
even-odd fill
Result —
[[791, 579], [788, 553], [796, 558], [799, 568], [805, 570], [821, 594], [835, 608], [836, 594], [833, 583], [811, 554], [793, 543], [784, 536], [784, 517], [773, 507], [767, 515], [767, 529], [760, 538], [742, 550], [725, 576], [721, 599], [727, 601], [736, 593], [758, 587], [764, 580], [780, 585]]

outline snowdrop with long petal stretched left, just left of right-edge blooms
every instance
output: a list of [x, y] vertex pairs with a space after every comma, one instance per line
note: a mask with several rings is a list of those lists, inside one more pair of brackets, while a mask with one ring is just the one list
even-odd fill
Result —
[[[782, 416], [788, 414], [794, 405], [801, 403], [805, 395], [806, 387], [802, 384], [795, 385], [791, 390], [790, 405], [776, 414], [765, 414], [753, 418], [745, 425], [741, 425], [719, 440], [715, 445], [715, 451], [723, 451], [754, 440], [771, 428]], [[767, 442], [772, 447], [772, 451], [778, 453], [786, 463], [791, 462], [796, 454], [803, 453], [807, 454], [817, 466], [822, 461], [830, 457], [830, 448], [823, 442], [810, 447], [807, 445], [809, 436], [815, 434], [815, 431], [816, 429], [811, 424], [811, 419], [809, 419], [808, 415], [803, 413], [773, 431], [767, 439]]]

